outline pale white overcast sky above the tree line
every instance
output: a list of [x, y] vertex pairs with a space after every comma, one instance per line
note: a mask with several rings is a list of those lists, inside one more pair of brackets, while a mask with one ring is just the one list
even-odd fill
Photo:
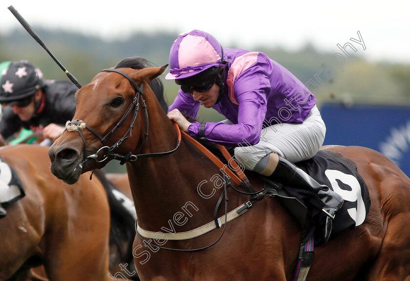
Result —
[[224, 47], [297, 51], [311, 44], [319, 51], [336, 54], [342, 52], [337, 44], [351, 43], [356, 51], [349, 46], [345, 49], [369, 61], [409, 64], [410, 2], [375, 2], [1, 0], [0, 34], [22, 28], [7, 9], [12, 5], [34, 29], [79, 31], [106, 40], [126, 38], [132, 32], [179, 34], [200, 29]]

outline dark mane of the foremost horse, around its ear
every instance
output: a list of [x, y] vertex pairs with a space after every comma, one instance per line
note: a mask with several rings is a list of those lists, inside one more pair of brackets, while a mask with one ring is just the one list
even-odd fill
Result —
[[[129, 67], [133, 69], [143, 69], [146, 67], [154, 67], [155, 65], [150, 61], [144, 59], [143, 57], [129, 57], [123, 59], [119, 62], [114, 68], [121, 68], [121, 67]], [[155, 96], [157, 97], [161, 108], [164, 112], [168, 111], [168, 104], [164, 97], [164, 85], [159, 77], [155, 78], [154, 80], [150, 81], [148, 85], [151, 87], [152, 91], [154, 92]]]

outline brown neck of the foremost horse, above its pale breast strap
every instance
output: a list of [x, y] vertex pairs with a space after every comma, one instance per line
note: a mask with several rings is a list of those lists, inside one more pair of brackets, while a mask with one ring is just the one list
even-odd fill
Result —
[[[156, 108], [148, 106], [147, 109], [148, 137], [140, 153], [173, 150], [177, 144], [174, 126], [159, 108], [159, 104]], [[142, 135], [144, 130], [144, 126], [141, 126]], [[195, 220], [188, 221], [183, 227], [185, 230], [197, 227], [195, 223], [198, 221], [209, 221], [218, 195], [205, 200], [197, 192], [197, 187], [203, 180], [209, 181], [212, 175], [218, 173], [218, 168], [202, 156], [183, 140], [179, 149], [169, 155], [127, 163], [127, 173], [141, 227], [156, 230], [167, 227], [168, 221], [172, 221], [174, 214], [184, 210], [186, 204], [192, 208], [191, 214], [195, 209], [193, 206], [201, 212], [195, 212]], [[179, 230], [185, 231], [182, 228]]]

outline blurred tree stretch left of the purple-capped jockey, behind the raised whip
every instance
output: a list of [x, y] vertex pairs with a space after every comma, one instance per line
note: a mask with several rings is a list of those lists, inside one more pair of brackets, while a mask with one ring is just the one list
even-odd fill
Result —
[[[42, 41], [80, 84], [85, 85], [102, 69], [126, 57], [141, 56], [154, 65], [168, 63], [169, 48], [177, 34], [137, 33], [122, 41], [104, 41], [67, 31], [34, 27]], [[46, 79], [67, 79], [65, 73], [22, 27], [0, 36], [0, 62], [28, 60]]]

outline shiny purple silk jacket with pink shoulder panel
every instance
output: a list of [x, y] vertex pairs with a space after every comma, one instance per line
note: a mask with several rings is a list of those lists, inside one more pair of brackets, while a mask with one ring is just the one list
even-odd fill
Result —
[[[285, 67], [260, 52], [224, 48], [229, 63], [225, 69], [225, 94], [213, 106], [233, 125], [205, 123], [205, 138], [225, 145], [255, 145], [260, 131], [277, 123], [302, 123], [316, 97]], [[168, 108], [178, 108], [195, 118], [201, 104], [181, 89]], [[199, 136], [200, 123], [194, 122], [188, 134]]]

